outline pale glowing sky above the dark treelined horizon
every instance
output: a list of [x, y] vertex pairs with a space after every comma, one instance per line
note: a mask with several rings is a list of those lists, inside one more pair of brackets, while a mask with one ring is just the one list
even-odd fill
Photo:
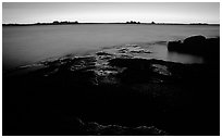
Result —
[[2, 22], [220, 23], [219, 2], [3, 2]]

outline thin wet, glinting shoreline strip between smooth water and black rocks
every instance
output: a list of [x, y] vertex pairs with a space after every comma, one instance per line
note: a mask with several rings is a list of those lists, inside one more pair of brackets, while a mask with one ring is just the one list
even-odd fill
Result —
[[[11, 67], [8, 70], [4, 70], [3, 73], [10, 73], [10, 72], [16, 72], [26, 67], [32, 67], [32, 66], [38, 66], [41, 65], [42, 62], [47, 62], [47, 61], [55, 61], [58, 59], [63, 59], [66, 57], [75, 57], [75, 58], [87, 58], [87, 57], [96, 57], [97, 53], [107, 53], [107, 54], [112, 54], [113, 58], [116, 57], [121, 57], [121, 55], [125, 55], [125, 57], [131, 57], [131, 58], [138, 58], [138, 59], [156, 59], [156, 60], [162, 60], [165, 62], [174, 62], [174, 63], [182, 63], [182, 64], [203, 64], [199, 63], [199, 62], [183, 62], [183, 61], [171, 61], [171, 60], [166, 60], [165, 58], [147, 58], [144, 57], [145, 54], [152, 54], [153, 52], [157, 51], [152, 51], [150, 50], [150, 47], [156, 47], [156, 45], [164, 45], [164, 47], [168, 47], [168, 43], [171, 41], [149, 41], [149, 42], [131, 42], [131, 43], [122, 43], [122, 45], [115, 45], [115, 46], [109, 46], [109, 47], [100, 47], [98, 49], [91, 49], [85, 52], [81, 52], [81, 53], [65, 53], [63, 55], [55, 55], [55, 57], [49, 57], [29, 64], [22, 64], [15, 67]], [[184, 53], [182, 53], [184, 54]], [[188, 53], [185, 53], [187, 55], [189, 55]], [[190, 54], [193, 55], [193, 54]], [[199, 55], [196, 55], [199, 57]], [[199, 57], [200, 58], [200, 57]]]

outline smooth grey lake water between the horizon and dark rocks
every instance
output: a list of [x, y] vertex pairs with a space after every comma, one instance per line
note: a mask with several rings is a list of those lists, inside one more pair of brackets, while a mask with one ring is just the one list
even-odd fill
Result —
[[182, 63], [201, 63], [202, 58], [166, 50], [166, 41], [193, 35], [220, 36], [220, 26], [79, 24], [50, 26], [3, 26], [3, 71], [69, 53], [89, 54], [113, 46], [139, 45], [155, 58]]

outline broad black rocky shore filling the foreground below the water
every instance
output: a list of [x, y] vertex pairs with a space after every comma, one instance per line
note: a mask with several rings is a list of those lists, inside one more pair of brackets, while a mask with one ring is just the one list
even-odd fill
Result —
[[3, 135], [220, 135], [219, 62], [126, 54], [149, 54], [137, 46], [114, 50], [3, 74]]

